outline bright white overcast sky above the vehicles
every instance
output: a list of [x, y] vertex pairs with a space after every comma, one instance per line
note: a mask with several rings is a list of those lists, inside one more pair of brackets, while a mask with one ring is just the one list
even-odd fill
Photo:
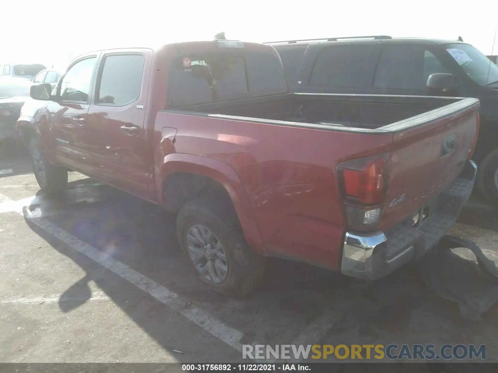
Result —
[[94, 49], [210, 40], [220, 31], [227, 39], [255, 42], [380, 34], [451, 40], [462, 36], [491, 54], [498, 26], [496, 0], [25, 0], [22, 5], [7, 1], [1, 9], [0, 64], [33, 61], [61, 70], [78, 54]]

